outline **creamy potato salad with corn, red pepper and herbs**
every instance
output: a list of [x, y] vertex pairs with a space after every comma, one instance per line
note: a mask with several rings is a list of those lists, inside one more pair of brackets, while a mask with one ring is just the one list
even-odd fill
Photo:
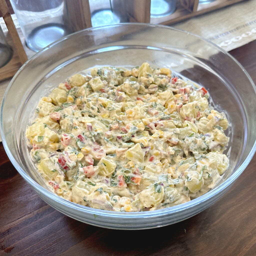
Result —
[[42, 97], [26, 130], [57, 195], [97, 209], [146, 211], [205, 194], [228, 167], [228, 121], [205, 88], [148, 63], [92, 68]]

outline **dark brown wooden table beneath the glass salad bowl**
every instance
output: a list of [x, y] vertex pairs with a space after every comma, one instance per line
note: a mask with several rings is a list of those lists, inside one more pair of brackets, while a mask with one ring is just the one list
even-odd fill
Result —
[[[230, 52], [254, 83], [255, 49], [253, 41]], [[136, 231], [90, 226], [48, 206], [14, 169], [2, 143], [0, 165], [0, 255], [256, 255], [256, 155], [228, 193], [205, 211]]]

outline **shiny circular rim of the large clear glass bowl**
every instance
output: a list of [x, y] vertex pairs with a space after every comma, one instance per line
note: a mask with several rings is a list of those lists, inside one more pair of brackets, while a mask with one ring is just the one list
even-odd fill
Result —
[[[5, 139], [5, 135], [3, 133], [3, 105], [5, 102], [5, 95], [8, 94], [9, 88], [12, 86], [14, 80], [16, 79], [16, 77], [19, 75], [20, 72], [22, 72], [23, 68], [25, 67], [25, 65], [31, 61], [33, 61], [35, 58], [37, 58], [38, 55], [40, 54], [44, 54], [45, 51], [47, 51], [48, 48], [55, 46], [56, 44], [58, 44], [58, 42], [66, 40], [70, 37], [72, 37], [74, 34], [78, 34], [78, 33], [86, 33], [86, 31], [91, 31], [91, 30], [98, 30], [98, 29], [104, 29], [104, 28], [109, 28], [109, 27], [119, 27], [119, 26], [129, 26], [129, 25], [137, 25], [137, 26], [144, 26], [144, 27], [163, 27], [163, 28], [168, 28], [171, 30], [175, 30], [175, 31], [179, 31], [181, 33], [186, 33], [189, 34], [191, 36], [197, 37], [200, 40], [206, 41], [207, 43], [213, 45], [215, 48], [217, 48], [219, 51], [221, 51], [223, 54], [227, 55], [229, 58], [231, 58], [240, 68], [241, 70], [244, 72], [244, 74], [246, 75], [246, 77], [248, 78], [248, 80], [251, 83], [251, 86], [253, 87], [254, 91], [256, 92], [256, 87], [252, 81], [252, 79], [250, 78], [248, 72], [242, 67], [242, 65], [234, 58], [232, 57], [228, 52], [226, 52], [225, 50], [223, 50], [222, 48], [218, 47], [217, 45], [213, 44], [212, 42], [210, 42], [209, 40], [206, 40], [198, 35], [195, 35], [193, 33], [181, 30], [181, 29], [176, 29], [176, 28], [172, 28], [172, 27], [167, 27], [164, 25], [153, 25], [153, 24], [144, 24], [144, 23], [122, 23], [122, 24], [114, 24], [114, 25], [107, 25], [107, 26], [100, 26], [100, 27], [94, 27], [94, 28], [87, 28], [78, 32], [75, 32], [73, 34], [70, 34], [66, 37], [61, 38], [58, 41], [55, 41], [54, 43], [50, 44], [49, 46], [45, 47], [44, 49], [40, 50], [39, 52], [37, 52], [32, 58], [30, 58], [26, 63], [24, 63], [24, 65], [17, 71], [17, 73], [15, 74], [15, 76], [12, 78], [12, 80], [10, 81], [4, 97], [3, 97], [3, 102], [1, 105], [1, 117], [0, 117], [0, 132], [1, 132], [1, 136], [2, 136], [2, 142], [3, 142], [3, 146], [5, 148], [5, 151], [10, 159], [10, 161], [12, 162], [12, 164], [14, 165], [14, 167], [16, 168], [16, 170], [19, 172], [19, 174], [26, 180], [26, 182], [37, 192], [37, 194], [42, 194], [44, 197], [46, 197], [47, 199], [54, 200], [57, 203], [59, 203], [60, 205], [62, 205], [63, 207], [67, 207], [69, 208], [71, 211], [72, 209], [76, 209], [77, 211], [81, 211], [81, 212], [86, 212], [88, 214], [93, 214], [93, 215], [101, 215], [101, 216], [105, 216], [108, 218], [122, 218], [122, 219], [127, 219], [127, 218], [138, 218], [138, 217], [157, 217], [157, 216], [163, 216], [163, 215], [167, 215], [168, 216], [170, 214], [178, 214], [179, 212], [182, 212], [186, 209], [190, 209], [193, 207], [196, 207], [197, 205], [205, 202], [205, 205], [207, 205], [207, 201], [213, 197], [215, 197], [216, 200], [218, 200], [227, 190], [227, 188], [229, 189], [231, 187], [231, 185], [236, 181], [236, 179], [242, 174], [243, 170], [246, 168], [246, 166], [249, 164], [249, 162], [251, 161], [255, 151], [256, 151], [256, 140], [253, 144], [253, 147], [250, 151], [250, 153], [248, 154], [248, 156], [246, 157], [246, 159], [244, 160], [244, 162], [241, 164], [241, 166], [227, 179], [225, 180], [223, 183], [221, 183], [220, 185], [218, 185], [216, 188], [208, 191], [206, 194], [195, 198], [189, 202], [186, 202], [184, 204], [180, 204], [177, 206], [173, 206], [170, 208], [165, 208], [165, 209], [161, 209], [161, 210], [154, 210], [154, 211], [143, 211], [143, 212], [114, 212], [114, 211], [107, 211], [107, 210], [100, 210], [100, 209], [94, 209], [94, 208], [90, 208], [87, 206], [82, 206], [73, 202], [70, 202], [66, 199], [63, 199], [51, 192], [49, 192], [48, 190], [46, 190], [45, 188], [41, 187], [38, 183], [36, 183], [29, 175], [27, 175], [24, 170], [19, 166], [19, 164], [16, 162], [15, 158], [12, 156], [12, 154], [10, 153], [9, 147], [7, 145], [6, 139]], [[226, 188], [226, 189], [225, 189]], [[223, 192], [224, 191], [224, 192]], [[47, 201], [47, 203], [49, 204], [49, 202]], [[53, 206], [54, 207], [54, 206]], [[206, 207], [205, 207], [206, 208]], [[200, 211], [198, 211], [200, 212]], [[192, 215], [191, 215], [192, 216]], [[75, 217], [73, 217], [75, 218]], [[75, 218], [76, 219], [76, 218]], [[186, 219], [186, 218], [185, 218]], [[160, 224], [160, 223], [159, 223]], [[100, 224], [93, 224], [95, 226], [102, 226]], [[161, 225], [160, 225], [161, 226]], [[110, 227], [111, 228], [111, 227]]]

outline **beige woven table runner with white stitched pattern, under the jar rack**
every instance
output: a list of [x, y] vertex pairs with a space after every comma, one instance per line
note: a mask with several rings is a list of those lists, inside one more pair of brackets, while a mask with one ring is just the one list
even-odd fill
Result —
[[[16, 27], [19, 27], [13, 16]], [[2, 17], [0, 24], [6, 30]], [[243, 1], [220, 10], [200, 15], [172, 25], [199, 35], [226, 51], [238, 48], [256, 39], [256, 0]], [[31, 51], [28, 54], [31, 57]], [[0, 102], [11, 79], [0, 82]], [[1, 137], [0, 137], [0, 141]]]

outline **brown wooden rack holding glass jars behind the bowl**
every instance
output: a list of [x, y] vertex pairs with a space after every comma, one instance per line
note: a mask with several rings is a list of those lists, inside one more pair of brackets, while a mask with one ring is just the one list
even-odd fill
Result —
[[[209, 4], [199, 4], [199, 0], [177, 0], [175, 12], [160, 18], [150, 17], [151, 0], [120, 0], [119, 8], [120, 12], [125, 12], [127, 22], [170, 25], [241, 1], [244, 0], [215, 0]], [[72, 20], [73, 31], [91, 27], [89, 0], [66, 0], [66, 7], [68, 18]], [[5, 0], [0, 0], [0, 12], [8, 28], [6, 38], [14, 50], [10, 62], [0, 68], [1, 81], [14, 76], [19, 67], [28, 59], [27, 53], [30, 50], [25, 46], [21, 30], [15, 28]]]

